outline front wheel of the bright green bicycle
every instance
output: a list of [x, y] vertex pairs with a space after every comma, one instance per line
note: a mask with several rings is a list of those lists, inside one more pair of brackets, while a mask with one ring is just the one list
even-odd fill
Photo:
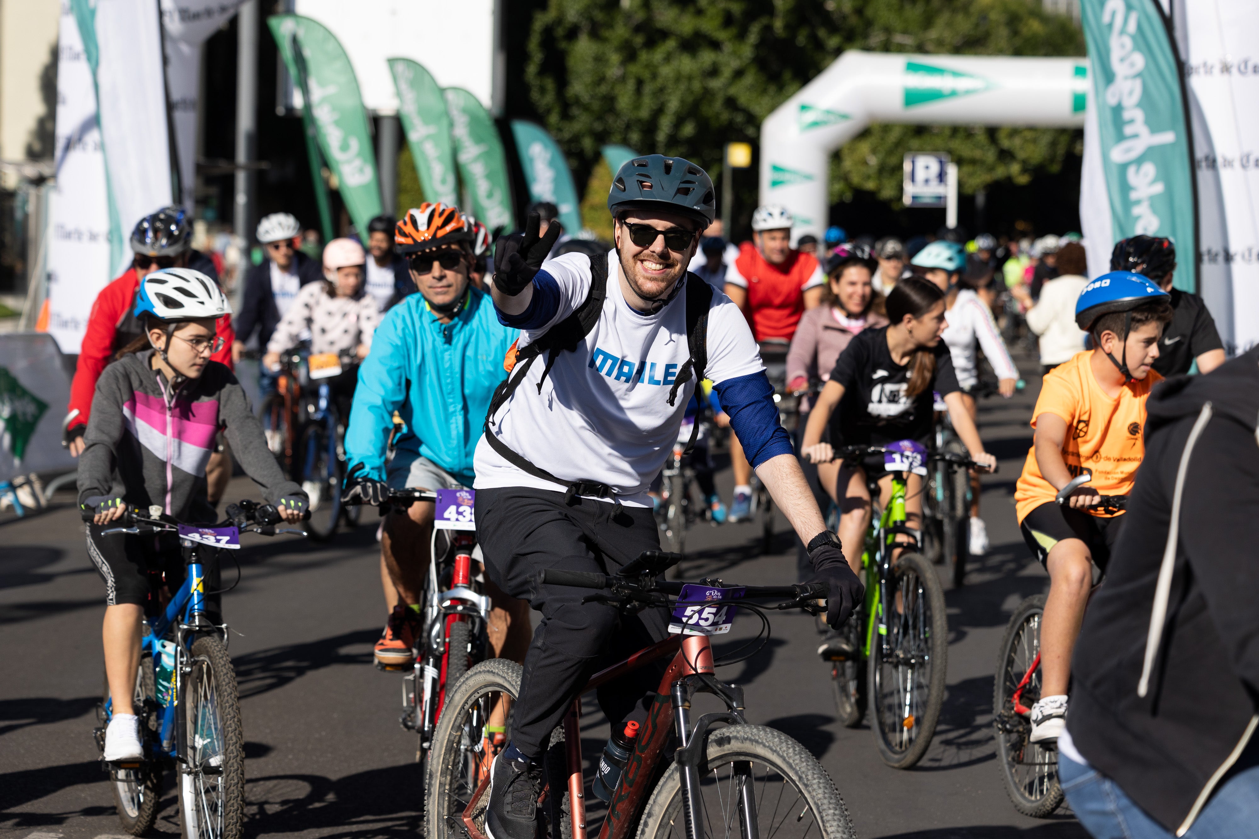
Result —
[[[883, 762], [893, 769], [909, 769], [932, 745], [944, 704], [948, 618], [944, 589], [930, 562], [920, 553], [903, 553], [891, 566], [888, 591], [900, 592], [901, 603], [905, 597], [912, 603], [899, 613], [894, 604], [881, 604], [886, 630], [880, 628], [870, 644], [866, 675], [874, 706], [870, 730]], [[903, 672], [905, 665], [898, 663], [905, 659], [909, 660], [908, 673]], [[922, 664], [929, 668], [925, 679]], [[884, 673], [885, 669], [889, 672]], [[898, 686], [885, 691], [889, 682], [893, 686], [899, 682], [908, 689]]]

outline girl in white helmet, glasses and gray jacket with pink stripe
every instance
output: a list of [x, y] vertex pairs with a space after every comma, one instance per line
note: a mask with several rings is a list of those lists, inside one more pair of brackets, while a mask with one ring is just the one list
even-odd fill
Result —
[[[154, 564], [162, 562], [162, 555], [152, 540], [102, 531], [127, 506], [159, 507], [180, 522], [215, 521], [205, 468], [220, 428], [246, 473], [286, 520], [301, 518], [306, 508], [306, 494], [285, 479], [267, 450], [262, 426], [235, 376], [210, 358], [224, 341], [215, 335], [215, 319], [230, 312], [218, 284], [198, 270], [169, 268], [149, 274], [133, 309], [145, 332], [122, 348], [97, 381], [78, 491], [81, 512], [91, 522], [88, 555], [106, 585], [102, 636], [113, 697], [104, 735], [107, 761], [142, 757], [131, 697], [150, 592], [147, 569], [161, 567]], [[183, 567], [162, 569], [172, 589]], [[206, 586], [219, 589], [218, 569], [206, 575]], [[219, 611], [213, 596], [209, 608]]]

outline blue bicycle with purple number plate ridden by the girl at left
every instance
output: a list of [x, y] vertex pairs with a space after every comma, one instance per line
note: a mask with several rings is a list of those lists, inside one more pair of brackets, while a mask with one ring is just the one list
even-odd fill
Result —
[[[179, 525], [161, 516], [128, 509], [110, 533], [151, 535], [169, 540], [165, 567], [150, 569], [151, 595], [145, 609], [140, 670], [133, 697], [140, 717], [140, 761], [104, 764], [123, 829], [141, 835], [154, 825], [161, 780], [176, 771], [180, 823], [185, 839], [239, 839], [244, 823], [244, 733], [235, 672], [228, 658], [227, 624], [206, 611], [208, 575], [220, 550], [238, 550], [240, 533], [263, 536], [305, 531], [281, 528], [271, 504], [242, 501], [228, 507], [228, 520], [214, 526]], [[180, 569], [175, 560], [181, 560]], [[239, 565], [238, 565], [239, 569]], [[179, 589], [170, 585], [183, 572]], [[239, 581], [239, 576], [237, 577]], [[233, 586], [234, 587], [234, 584]], [[104, 753], [104, 728], [113, 716], [110, 684], [97, 711], [94, 731]]]

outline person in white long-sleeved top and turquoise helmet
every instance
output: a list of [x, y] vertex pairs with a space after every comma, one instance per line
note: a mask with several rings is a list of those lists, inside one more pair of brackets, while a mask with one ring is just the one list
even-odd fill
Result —
[[[992, 319], [992, 312], [976, 294], [974, 288], [962, 278], [966, 265], [966, 252], [953, 242], [933, 242], [910, 263], [914, 273], [935, 283], [946, 293], [944, 343], [953, 358], [953, 370], [963, 390], [963, 400], [976, 420], [978, 409], [974, 396], [968, 392], [980, 382], [978, 348], [988, 358], [997, 374], [997, 387], [1002, 396], [1010, 399], [1019, 382], [1019, 369], [1015, 366], [1001, 332]], [[988, 551], [988, 530], [980, 518], [980, 475], [971, 474], [971, 553], [982, 556]]]

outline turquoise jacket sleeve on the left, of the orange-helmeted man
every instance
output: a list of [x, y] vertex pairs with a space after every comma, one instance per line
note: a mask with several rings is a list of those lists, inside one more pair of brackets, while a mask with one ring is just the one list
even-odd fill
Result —
[[419, 345], [409, 328], [410, 309], [395, 306], [385, 314], [371, 340], [371, 352], [359, 367], [354, 387], [350, 428], [345, 431], [345, 460], [349, 472], [376, 481], [385, 479], [385, 449], [393, 430], [393, 414], [407, 401], [407, 384], [414, 377], [408, 364], [409, 347]]

